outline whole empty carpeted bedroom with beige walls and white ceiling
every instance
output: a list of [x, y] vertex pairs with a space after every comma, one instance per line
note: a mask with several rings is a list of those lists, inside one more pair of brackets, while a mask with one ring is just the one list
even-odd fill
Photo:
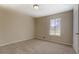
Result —
[[78, 4], [0, 4], [0, 54], [79, 53]]

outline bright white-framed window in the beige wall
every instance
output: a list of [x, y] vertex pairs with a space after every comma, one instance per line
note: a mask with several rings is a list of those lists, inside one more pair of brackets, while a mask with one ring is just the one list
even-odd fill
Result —
[[55, 18], [50, 20], [50, 35], [60, 36], [61, 18]]

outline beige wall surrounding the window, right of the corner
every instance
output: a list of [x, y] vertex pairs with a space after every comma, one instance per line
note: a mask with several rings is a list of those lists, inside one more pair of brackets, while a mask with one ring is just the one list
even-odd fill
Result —
[[[61, 36], [50, 36], [50, 19], [61, 18]], [[54, 14], [51, 16], [40, 17], [35, 19], [36, 32], [35, 36], [38, 39], [64, 43], [72, 45], [73, 37], [73, 11]]]

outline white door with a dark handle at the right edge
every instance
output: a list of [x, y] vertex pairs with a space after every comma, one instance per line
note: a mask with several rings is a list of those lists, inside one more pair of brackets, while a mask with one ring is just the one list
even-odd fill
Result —
[[74, 5], [73, 9], [73, 47], [76, 53], [79, 53], [79, 35], [76, 33], [79, 33], [79, 5]]

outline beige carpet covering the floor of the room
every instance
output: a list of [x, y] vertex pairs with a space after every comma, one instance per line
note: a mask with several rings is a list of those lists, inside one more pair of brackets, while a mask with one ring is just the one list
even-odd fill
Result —
[[66, 45], [32, 39], [0, 47], [0, 54], [73, 54], [73, 48]]

